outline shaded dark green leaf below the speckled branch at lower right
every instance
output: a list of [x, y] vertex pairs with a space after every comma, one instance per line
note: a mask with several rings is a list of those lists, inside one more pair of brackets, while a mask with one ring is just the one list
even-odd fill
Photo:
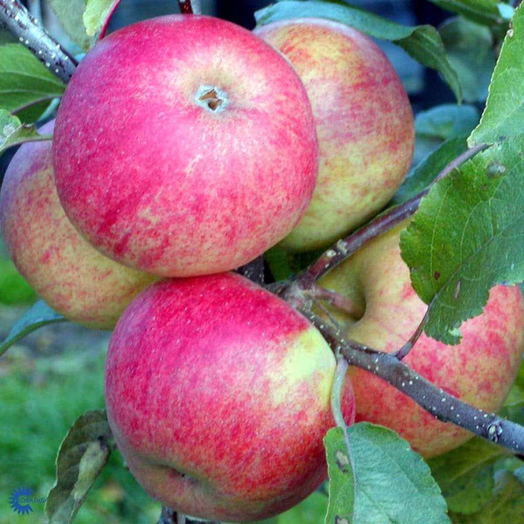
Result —
[[491, 498], [495, 485], [495, 463], [509, 452], [478, 436], [453, 451], [431, 459], [428, 464], [442, 489], [447, 507], [474, 513]]

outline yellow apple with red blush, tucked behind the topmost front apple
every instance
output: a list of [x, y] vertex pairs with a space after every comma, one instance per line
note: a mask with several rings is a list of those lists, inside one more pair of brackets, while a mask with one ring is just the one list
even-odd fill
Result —
[[356, 29], [294, 18], [254, 32], [299, 73], [320, 146], [313, 199], [280, 245], [291, 251], [321, 248], [375, 215], [405, 178], [413, 155], [411, 106], [384, 53]]

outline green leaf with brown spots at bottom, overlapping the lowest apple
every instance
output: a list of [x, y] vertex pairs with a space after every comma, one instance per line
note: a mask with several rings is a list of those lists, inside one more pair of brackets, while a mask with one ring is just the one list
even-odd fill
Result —
[[348, 428], [356, 486], [344, 436], [324, 437], [330, 477], [326, 524], [449, 524], [440, 489], [422, 457], [390, 429], [361, 422]]

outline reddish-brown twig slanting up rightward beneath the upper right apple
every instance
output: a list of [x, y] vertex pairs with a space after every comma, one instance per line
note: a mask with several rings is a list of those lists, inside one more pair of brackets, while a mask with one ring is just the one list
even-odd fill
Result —
[[453, 171], [453, 169], [460, 166], [465, 160], [472, 158], [486, 147], [487, 144], [479, 144], [478, 146], [467, 149], [461, 155], [452, 160], [423, 191], [406, 202], [389, 208], [351, 235], [333, 244], [318, 260], [316, 260], [316, 262], [298, 275], [297, 279], [300, 281], [301, 286], [304, 289], [308, 289], [313, 282], [355, 253], [355, 251], [366, 242], [382, 233], [385, 233], [391, 227], [396, 226], [409, 216], [413, 215], [413, 213], [419, 208], [422, 198], [428, 194], [430, 188], [436, 181], [445, 177], [448, 173]]

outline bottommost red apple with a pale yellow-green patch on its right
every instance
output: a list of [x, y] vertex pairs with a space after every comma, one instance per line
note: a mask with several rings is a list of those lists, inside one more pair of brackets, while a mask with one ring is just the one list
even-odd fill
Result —
[[[194, 517], [248, 522], [325, 479], [335, 358], [300, 313], [246, 278], [154, 283], [113, 332], [108, 420], [137, 481]], [[353, 422], [351, 382], [344, 419]]]

